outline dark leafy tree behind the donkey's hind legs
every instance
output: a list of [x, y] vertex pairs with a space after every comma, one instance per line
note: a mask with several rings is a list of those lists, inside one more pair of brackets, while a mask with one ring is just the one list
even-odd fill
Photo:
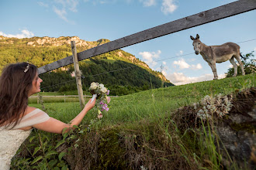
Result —
[[[243, 57], [241, 58], [242, 63], [244, 64], [244, 72], [245, 74], [250, 74], [250, 73], [256, 73], [256, 61], [254, 58], [254, 51], [251, 53], [247, 53], [245, 55], [242, 55]], [[234, 67], [230, 68], [227, 70], [227, 76], [226, 77], [231, 77], [234, 74]], [[237, 67], [237, 76], [242, 75], [242, 71], [240, 69], [240, 66]]]

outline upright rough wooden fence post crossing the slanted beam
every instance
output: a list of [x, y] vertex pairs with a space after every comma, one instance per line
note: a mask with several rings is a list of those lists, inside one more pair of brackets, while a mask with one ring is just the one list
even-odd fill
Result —
[[78, 53], [75, 47], [75, 41], [71, 41], [71, 48], [72, 48], [73, 62], [74, 62], [74, 74], [75, 74], [75, 79], [78, 87], [78, 97], [79, 97], [80, 107], [82, 110], [85, 107], [85, 100], [83, 97], [84, 94], [81, 86], [81, 71], [79, 70]]

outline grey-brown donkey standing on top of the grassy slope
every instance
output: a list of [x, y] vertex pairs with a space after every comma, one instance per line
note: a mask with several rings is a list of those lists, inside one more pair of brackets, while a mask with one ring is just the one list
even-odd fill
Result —
[[223, 63], [227, 60], [230, 60], [230, 63], [234, 66], [234, 75], [237, 76], [237, 64], [234, 61], [234, 58], [237, 59], [240, 68], [242, 70], [242, 74], [244, 75], [244, 65], [240, 60], [240, 46], [238, 46], [234, 42], [227, 42], [220, 46], [206, 46], [206, 44], [202, 43], [199, 39], [199, 35], [196, 34], [196, 37], [190, 36], [190, 39], [193, 40], [193, 46], [195, 50], [195, 54], [202, 55], [202, 58], [206, 60], [211, 69], [213, 70], [214, 78], [213, 80], [218, 79], [216, 63]]

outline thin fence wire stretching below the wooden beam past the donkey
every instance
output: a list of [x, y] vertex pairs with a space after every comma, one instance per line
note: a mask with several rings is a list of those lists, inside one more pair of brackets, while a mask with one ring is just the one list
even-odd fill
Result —
[[[246, 41], [242, 41], [242, 42], [237, 42], [237, 44], [239, 43], [244, 43], [244, 42], [250, 42], [250, 41], [254, 41], [256, 39], [249, 39], [249, 40], [246, 40]], [[172, 57], [168, 57], [168, 58], [165, 58], [165, 59], [158, 59], [156, 61], [153, 61], [153, 62], [150, 62], [150, 63], [155, 63], [155, 62], [159, 62], [159, 61], [164, 61], [164, 60], [168, 60], [168, 59], [174, 59], [174, 58], [178, 58], [178, 57], [181, 57], [181, 56], [189, 56], [193, 53], [187, 53], [187, 54], [183, 54], [183, 55], [179, 55], [179, 56], [172, 56]], [[150, 64], [150, 63], [147, 63], [147, 64]], [[112, 71], [108, 71], [108, 72], [104, 72], [104, 73], [98, 73], [98, 74], [93, 74], [93, 75], [88, 75], [88, 76], [100, 76], [102, 74], [106, 74], [106, 73], [113, 73], [113, 72], [116, 72], [116, 71], [120, 71], [120, 70], [126, 70], [126, 69], [131, 69], [131, 68], [134, 68], [134, 67], [137, 67], [137, 65], [135, 66], [129, 66], [129, 67], [126, 67], [126, 68], [122, 68], [122, 69], [118, 69], [118, 70], [112, 70]], [[85, 79], [85, 77], [88, 77], [88, 76], [81, 76], [82, 79]], [[52, 86], [48, 86], [48, 87], [42, 87], [41, 89], [45, 89], [45, 88], [49, 88], [49, 87], [55, 87], [55, 86], [58, 86], [58, 85], [61, 85], [61, 84], [64, 84], [64, 83], [69, 83], [69, 82], [72, 82], [72, 81], [75, 81], [74, 80], [69, 80], [69, 81], [66, 81], [66, 82], [63, 82], [63, 83], [57, 83], [57, 84], [54, 84]]]

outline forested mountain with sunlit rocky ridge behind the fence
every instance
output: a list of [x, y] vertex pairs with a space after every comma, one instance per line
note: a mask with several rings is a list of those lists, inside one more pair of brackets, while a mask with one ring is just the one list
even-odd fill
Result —
[[[78, 53], [109, 42], [108, 39], [85, 41], [78, 36], [61, 36], [59, 38], [44, 36], [25, 39], [0, 36], [0, 69], [2, 70], [3, 66], [8, 63], [24, 61], [40, 67], [71, 56], [71, 41], [75, 41]], [[147, 90], [150, 87], [173, 86], [162, 73], [151, 70], [146, 63], [121, 49], [85, 59], [79, 62], [79, 65], [83, 76], [87, 77], [87, 80], [83, 82], [85, 87], [88, 87], [89, 82], [92, 81], [118, 87], [136, 87], [141, 90]], [[119, 71], [112, 72], [113, 70]], [[74, 79], [71, 76], [73, 71], [74, 67], [71, 64], [40, 75], [44, 78], [43, 87]], [[73, 87], [75, 88], [73, 85], [71, 87], [70, 84], [65, 86], [51, 87], [46, 90], [61, 90], [61, 88], [62, 90], [71, 90]]]

